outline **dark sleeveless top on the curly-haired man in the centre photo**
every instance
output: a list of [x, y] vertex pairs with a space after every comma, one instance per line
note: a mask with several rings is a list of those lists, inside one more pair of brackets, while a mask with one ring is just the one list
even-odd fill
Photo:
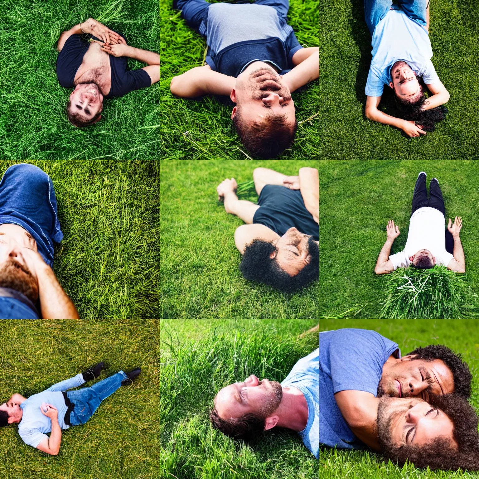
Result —
[[280, 236], [295, 227], [319, 241], [319, 225], [306, 209], [299, 190], [267, 184], [261, 190], [258, 205], [260, 207], [254, 214], [253, 223], [267, 226]]

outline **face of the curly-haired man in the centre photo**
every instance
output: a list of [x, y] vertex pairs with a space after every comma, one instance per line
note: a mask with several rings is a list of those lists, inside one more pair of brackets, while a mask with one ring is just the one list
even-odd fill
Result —
[[289, 228], [274, 246], [278, 251], [272, 253], [273, 258], [276, 257], [280, 268], [291, 276], [296, 276], [313, 261], [314, 256], [319, 256], [313, 237], [300, 233], [296, 228]]

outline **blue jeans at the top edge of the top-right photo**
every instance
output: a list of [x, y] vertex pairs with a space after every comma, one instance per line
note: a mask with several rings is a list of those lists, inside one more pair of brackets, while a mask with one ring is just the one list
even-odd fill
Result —
[[393, 5], [392, 0], [364, 0], [364, 16], [371, 35], [389, 10], [402, 10], [411, 20], [423, 27], [426, 26], [426, 9], [429, 0], [397, 0], [397, 2], [399, 5]]

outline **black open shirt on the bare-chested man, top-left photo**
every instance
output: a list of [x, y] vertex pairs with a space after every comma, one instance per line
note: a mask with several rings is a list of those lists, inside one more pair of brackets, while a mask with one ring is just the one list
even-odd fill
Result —
[[[118, 34], [125, 38], [121, 33]], [[90, 46], [87, 38], [88, 37], [84, 35], [71, 35], [58, 55], [57, 78], [60, 85], [64, 88], [75, 88], [75, 74], [78, 68], [80, 68], [83, 56]], [[93, 35], [91, 35], [91, 38], [100, 40]], [[127, 57], [113, 57], [110, 55], [112, 87], [108, 95], [105, 95], [105, 98], [124, 96], [130, 91], [151, 86], [150, 76], [145, 70], [141, 68], [137, 70], [127, 70], [127, 66]]]

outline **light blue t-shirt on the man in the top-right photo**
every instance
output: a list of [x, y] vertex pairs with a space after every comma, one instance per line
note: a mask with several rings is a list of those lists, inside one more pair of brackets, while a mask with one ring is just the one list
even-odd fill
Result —
[[388, 11], [376, 25], [371, 45], [373, 59], [366, 81], [366, 95], [382, 96], [384, 85], [392, 81], [391, 67], [399, 60], [405, 61], [426, 85], [440, 81], [431, 61], [433, 50], [426, 29], [404, 11]]

